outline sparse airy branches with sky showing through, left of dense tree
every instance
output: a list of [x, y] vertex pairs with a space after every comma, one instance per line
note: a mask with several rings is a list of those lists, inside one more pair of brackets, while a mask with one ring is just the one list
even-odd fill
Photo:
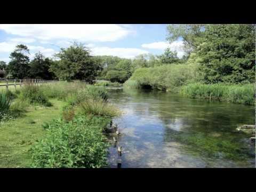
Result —
[[167, 41], [170, 43], [182, 38], [186, 52], [191, 52], [204, 41], [205, 25], [171, 24], [167, 26]]

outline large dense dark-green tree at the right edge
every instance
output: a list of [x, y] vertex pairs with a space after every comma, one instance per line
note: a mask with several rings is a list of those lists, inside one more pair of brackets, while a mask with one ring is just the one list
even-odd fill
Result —
[[255, 26], [208, 25], [198, 47], [205, 82], [255, 82]]

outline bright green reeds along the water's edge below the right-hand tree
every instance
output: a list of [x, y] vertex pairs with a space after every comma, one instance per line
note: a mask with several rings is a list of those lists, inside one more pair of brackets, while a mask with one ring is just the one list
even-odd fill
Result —
[[218, 99], [227, 102], [255, 104], [255, 89], [253, 84], [188, 84], [180, 90], [181, 94], [191, 98]]

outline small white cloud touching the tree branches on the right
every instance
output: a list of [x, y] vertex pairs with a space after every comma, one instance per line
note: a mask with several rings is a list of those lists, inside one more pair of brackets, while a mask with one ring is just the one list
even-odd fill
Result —
[[183, 50], [182, 41], [174, 41], [172, 43], [154, 42], [154, 43], [142, 44], [141, 46], [143, 48], [156, 49], [156, 50], [165, 50], [166, 48], [170, 48], [171, 51], [177, 51], [177, 56], [179, 58], [182, 58], [182, 56], [185, 54], [185, 51]]

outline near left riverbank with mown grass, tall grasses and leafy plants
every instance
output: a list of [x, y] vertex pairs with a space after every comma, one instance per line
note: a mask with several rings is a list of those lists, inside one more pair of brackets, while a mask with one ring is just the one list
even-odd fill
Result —
[[[26, 86], [9, 110], [26, 110], [2, 119], [1, 167], [104, 167], [107, 139], [103, 132], [119, 110], [107, 102], [102, 86], [55, 83]], [[6, 96], [6, 95], [5, 95]], [[13, 107], [15, 106], [15, 107]], [[17, 114], [17, 113], [16, 113]]]

